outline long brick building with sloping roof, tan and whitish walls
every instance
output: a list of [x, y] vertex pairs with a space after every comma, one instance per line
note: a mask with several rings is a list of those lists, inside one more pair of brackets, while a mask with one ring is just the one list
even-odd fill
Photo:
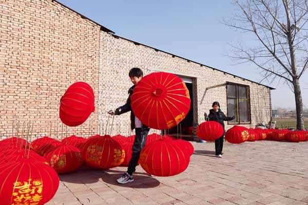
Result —
[[[125, 102], [132, 67], [145, 74], [164, 71], [182, 77], [192, 102], [183, 133], [204, 121], [213, 101], [236, 116], [226, 129], [235, 124], [255, 127], [271, 119], [272, 88], [117, 36], [59, 2], [2, 1], [0, 22], [1, 137], [15, 135], [17, 127], [22, 134], [29, 121], [36, 137], [109, 134], [106, 112]], [[95, 112], [82, 126], [67, 128], [59, 119], [59, 103], [76, 81], [92, 86]], [[118, 133], [131, 134], [128, 113], [115, 116], [111, 134]]]

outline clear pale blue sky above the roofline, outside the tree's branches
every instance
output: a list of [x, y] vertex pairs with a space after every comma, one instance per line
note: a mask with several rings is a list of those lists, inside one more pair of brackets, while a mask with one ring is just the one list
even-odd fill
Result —
[[[169, 1], [105, 1], [58, 0], [69, 8], [87, 16], [115, 34], [136, 42], [214, 67], [253, 81], [263, 77], [260, 70], [249, 64], [236, 65], [227, 57], [229, 44], [254, 44], [251, 35], [223, 25], [221, 20], [233, 15], [230, 2], [204, 0]], [[278, 81], [262, 84], [272, 90], [273, 109], [295, 109], [294, 93]], [[308, 108], [308, 72], [301, 78], [303, 104]]]

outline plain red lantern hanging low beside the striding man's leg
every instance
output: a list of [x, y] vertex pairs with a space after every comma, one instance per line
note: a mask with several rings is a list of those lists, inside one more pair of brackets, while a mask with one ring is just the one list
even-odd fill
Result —
[[141, 167], [155, 176], [173, 176], [185, 171], [190, 157], [173, 141], [160, 139], [145, 146], [140, 154]]

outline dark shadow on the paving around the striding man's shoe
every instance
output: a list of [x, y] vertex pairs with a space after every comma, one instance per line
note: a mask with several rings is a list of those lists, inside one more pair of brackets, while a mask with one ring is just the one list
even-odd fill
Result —
[[69, 183], [89, 184], [103, 181], [109, 185], [131, 187], [134, 189], [154, 188], [160, 185], [160, 181], [158, 181], [155, 177], [151, 177], [149, 174], [141, 172], [135, 172], [133, 174], [133, 182], [122, 185], [117, 182], [117, 179], [120, 178], [123, 173], [123, 171], [118, 170], [93, 169], [83, 166], [78, 171], [61, 174], [59, 175], [59, 178], [61, 181]]

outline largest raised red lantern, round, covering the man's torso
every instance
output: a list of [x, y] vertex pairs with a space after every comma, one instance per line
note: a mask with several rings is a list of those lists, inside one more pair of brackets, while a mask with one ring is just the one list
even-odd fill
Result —
[[169, 129], [178, 125], [188, 113], [189, 91], [174, 74], [151, 73], [134, 88], [131, 109], [142, 124], [157, 130]]

